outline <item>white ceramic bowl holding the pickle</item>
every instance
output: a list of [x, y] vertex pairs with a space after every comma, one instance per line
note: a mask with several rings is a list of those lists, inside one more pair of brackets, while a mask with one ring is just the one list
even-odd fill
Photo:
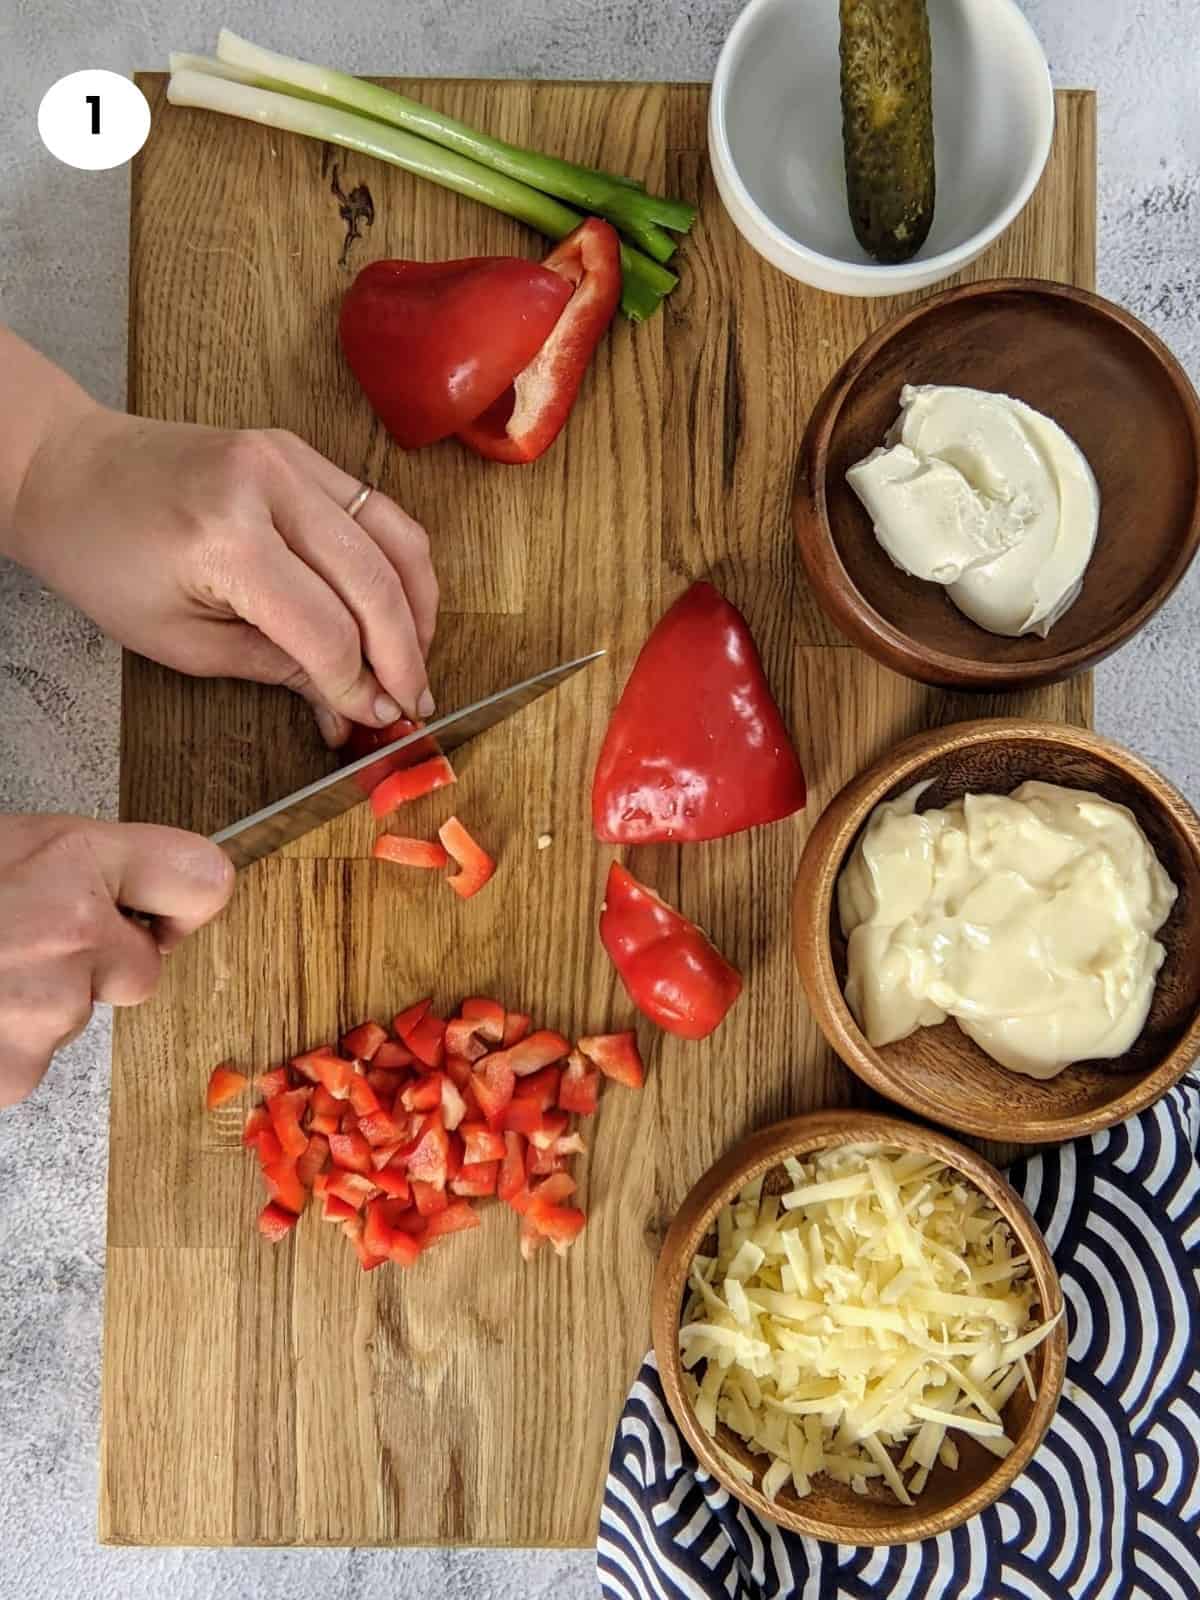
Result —
[[746, 240], [834, 294], [902, 294], [974, 261], [1037, 187], [1054, 91], [1016, 0], [930, 0], [936, 203], [899, 266], [854, 238], [842, 158], [835, 0], [750, 0], [717, 61], [709, 157]]

